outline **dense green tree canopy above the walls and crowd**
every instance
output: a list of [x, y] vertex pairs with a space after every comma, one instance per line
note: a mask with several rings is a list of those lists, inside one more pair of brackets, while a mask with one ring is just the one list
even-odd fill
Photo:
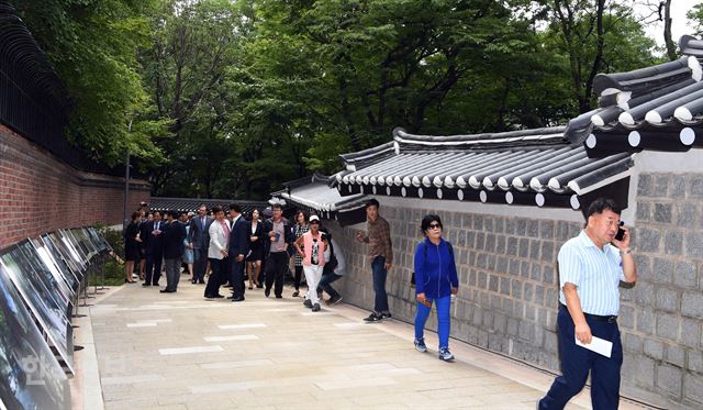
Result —
[[[391, 130], [562, 124], [663, 57], [624, 1], [20, 0], [70, 137], [153, 193], [263, 199]], [[701, 7], [691, 18], [703, 22]], [[699, 25], [700, 27], [700, 25]]]

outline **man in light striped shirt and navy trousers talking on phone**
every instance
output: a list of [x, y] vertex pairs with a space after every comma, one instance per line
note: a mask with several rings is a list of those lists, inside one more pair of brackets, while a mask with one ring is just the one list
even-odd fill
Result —
[[[561, 373], [538, 409], [563, 409], [585, 385], [591, 372], [593, 409], [616, 409], [623, 346], [617, 328], [620, 281], [635, 282], [637, 269], [629, 248], [629, 230], [622, 240], [620, 208], [610, 199], [596, 199], [587, 211], [585, 228], [559, 250], [559, 351]], [[611, 356], [579, 346], [593, 336], [613, 343]]]

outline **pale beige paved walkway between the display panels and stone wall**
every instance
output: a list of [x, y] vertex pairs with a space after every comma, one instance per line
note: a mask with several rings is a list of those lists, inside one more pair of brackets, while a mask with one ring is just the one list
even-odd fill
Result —
[[[96, 299], [78, 323], [74, 408], [534, 409], [551, 381], [456, 341], [457, 361], [443, 363], [435, 334], [419, 353], [410, 324], [364, 323], [368, 312], [344, 303], [313, 313], [263, 289], [241, 303], [202, 292], [124, 285]], [[568, 409], [579, 405], [590, 406], [588, 391]]]

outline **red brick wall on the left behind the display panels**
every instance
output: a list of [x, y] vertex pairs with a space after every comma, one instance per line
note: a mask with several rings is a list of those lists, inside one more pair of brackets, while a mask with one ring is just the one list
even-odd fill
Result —
[[[149, 185], [132, 179], [127, 210], [148, 200]], [[76, 170], [0, 125], [0, 248], [59, 228], [121, 224], [123, 201], [124, 178]]]

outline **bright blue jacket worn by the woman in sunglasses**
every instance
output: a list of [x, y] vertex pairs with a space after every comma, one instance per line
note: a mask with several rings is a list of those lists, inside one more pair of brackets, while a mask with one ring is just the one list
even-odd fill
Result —
[[428, 299], [438, 299], [459, 287], [457, 265], [454, 262], [451, 244], [440, 239], [435, 245], [428, 239], [415, 247], [415, 293], [425, 293]]

